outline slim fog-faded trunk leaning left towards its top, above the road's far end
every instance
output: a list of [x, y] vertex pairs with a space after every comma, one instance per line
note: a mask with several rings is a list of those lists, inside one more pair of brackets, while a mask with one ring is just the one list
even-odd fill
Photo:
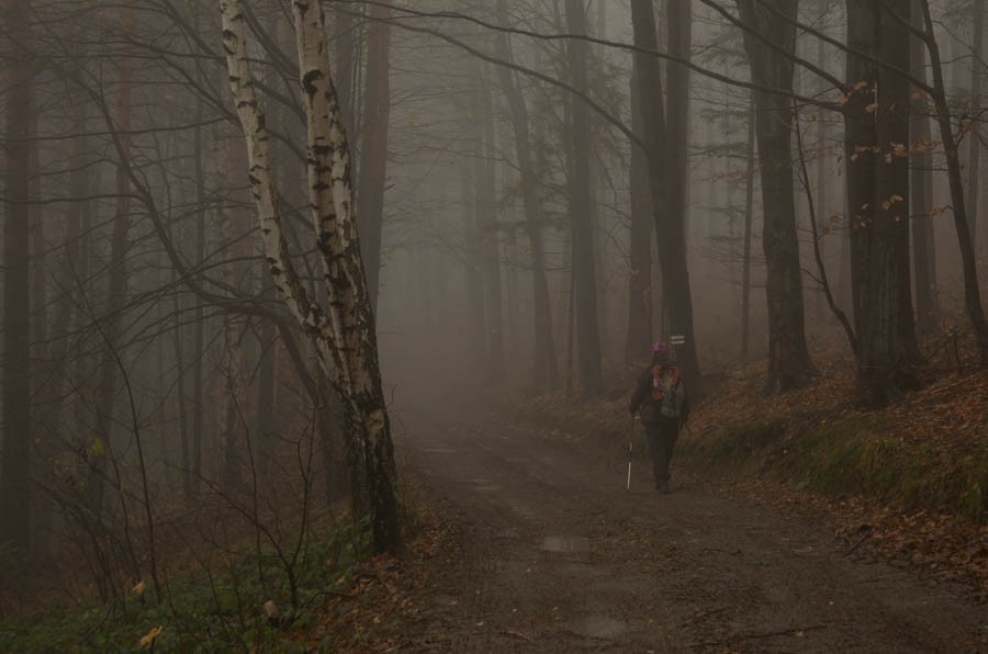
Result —
[[[502, 27], [508, 27], [507, 0], [497, 0], [497, 20]], [[494, 52], [504, 61], [512, 60], [510, 43], [507, 35], [498, 33], [494, 37]], [[521, 177], [521, 204], [525, 210], [525, 229], [531, 249], [532, 314], [535, 322], [534, 377], [537, 386], [554, 387], [559, 381], [559, 363], [552, 332], [552, 307], [549, 297], [549, 279], [546, 272], [546, 247], [542, 236], [542, 216], [536, 181], [529, 136], [528, 106], [525, 97], [510, 69], [498, 66], [497, 78], [501, 90], [508, 103], [512, 126], [515, 132], [515, 151], [518, 156], [518, 171]]]

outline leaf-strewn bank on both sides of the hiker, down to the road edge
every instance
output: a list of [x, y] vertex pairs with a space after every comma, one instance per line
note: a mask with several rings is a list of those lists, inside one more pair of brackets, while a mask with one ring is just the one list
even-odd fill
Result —
[[[849, 554], [973, 579], [988, 597], [988, 371], [943, 376], [866, 410], [845, 360], [807, 387], [764, 396], [764, 371], [731, 372], [694, 408], [673, 467], [793, 510], [820, 510]], [[627, 394], [526, 397], [544, 438], [627, 449]], [[639, 429], [640, 432], [640, 429]], [[637, 440], [643, 446], [643, 440]]]

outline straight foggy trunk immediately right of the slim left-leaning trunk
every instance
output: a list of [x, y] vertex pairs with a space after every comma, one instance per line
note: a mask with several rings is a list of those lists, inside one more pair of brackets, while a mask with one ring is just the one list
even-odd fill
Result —
[[[571, 34], [586, 34], [586, 8], [583, 0], [566, 0], [566, 26]], [[588, 47], [584, 41], [566, 45], [573, 87], [588, 92]], [[572, 99], [573, 167], [570, 170], [570, 221], [573, 232], [573, 274], [575, 275], [576, 367], [583, 392], [596, 395], [600, 390], [600, 332], [597, 320], [597, 274], [594, 256], [594, 225], [591, 219], [591, 133], [590, 108]]]

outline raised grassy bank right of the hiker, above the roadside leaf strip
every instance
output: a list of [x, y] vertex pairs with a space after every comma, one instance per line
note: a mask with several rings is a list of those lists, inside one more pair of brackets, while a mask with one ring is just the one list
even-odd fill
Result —
[[761, 397], [740, 371], [683, 439], [694, 470], [739, 472], [901, 510], [988, 517], [988, 372], [931, 384], [886, 409], [855, 406], [853, 370], [831, 362], [807, 388]]

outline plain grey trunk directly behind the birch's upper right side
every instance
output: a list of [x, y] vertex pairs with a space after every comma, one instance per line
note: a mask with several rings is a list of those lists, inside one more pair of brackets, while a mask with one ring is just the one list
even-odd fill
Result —
[[372, 5], [368, 27], [367, 90], [361, 122], [357, 216], [367, 267], [367, 289], [378, 306], [381, 279], [381, 237], [384, 224], [384, 184], [388, 177], [388, 129], [391, 122], [391, 9]]

